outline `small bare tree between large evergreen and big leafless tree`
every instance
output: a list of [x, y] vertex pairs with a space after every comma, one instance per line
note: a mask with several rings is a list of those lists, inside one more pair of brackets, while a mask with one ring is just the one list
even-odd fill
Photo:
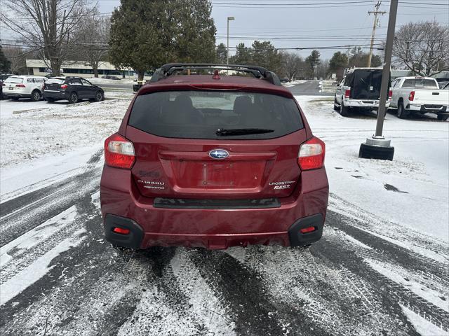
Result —
[[110, 28], [111, 20], [102, 17], [96, 8], [81, 21], [79, 50], [86, 64], [92, 66], [94, 77], [98, 77], [98, 66], [107, 57]]

